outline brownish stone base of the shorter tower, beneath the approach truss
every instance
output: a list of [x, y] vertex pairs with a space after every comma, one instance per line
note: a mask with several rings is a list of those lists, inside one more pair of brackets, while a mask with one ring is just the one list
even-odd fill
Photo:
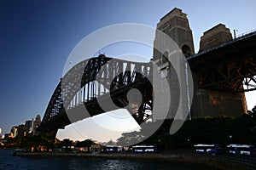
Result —
[[198, 116], [234, 116], [247, 113], [244, 93], [231, 94], [207, 89], [195, 90], [193, 117]]

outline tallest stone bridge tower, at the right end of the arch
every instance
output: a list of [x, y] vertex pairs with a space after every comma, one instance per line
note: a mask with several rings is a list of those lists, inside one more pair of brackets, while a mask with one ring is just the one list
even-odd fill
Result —
[[[177, 43], [177, 46], [182, 50], [185, 57], [189, 57], [192, 54], [195, 54], [194, 42], [192, 31], [189, 27], [189, 20], [187, 14], [184, 14], [183, 11], [179, 8], [173, 8], [171, 12], [166, 14], [160, 19], [160, 22], [157, 24], [157, 30], [164, 32], [167, 36], [171, 37], [174, 42]], [[177, 74], [171, 63], [166, 59], [167, 56], [172, 55], [172, 52], [169, 52], [168, 49], [172, 48], [165, 38], [160, 37], [156, 33], [154, 38], [154, 51], [153, 51], [153, 60], [160, 68], [160, 77], [166, 77], [168, 84], [160, 85], [160, 88], [154, 89], [165, 90], [169, 87], [171, 92], [171, 108], [169, 109], [167, 117], [156, 116], [154, 115], [153, 119], [163, 119], [163, 118], [173, 118], [177, 113], [177, 106], [179, 102], [179, 84], [177, 80]], [[164, 54], [161, 54], [157, 48], [165, 48]], [[172, 56], [171, 56], [172, 57]], [[166, 102], [163, 101], [162, 102]]]

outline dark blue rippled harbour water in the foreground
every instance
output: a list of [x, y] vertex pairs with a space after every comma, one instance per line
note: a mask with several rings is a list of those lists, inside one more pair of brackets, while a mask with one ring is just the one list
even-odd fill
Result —
[[147, 169], [147, 170], [214, 170], [213, 167], [191, 164], [187, 162], [124, 160], [88, 157], [22, 157], [12, 156], [12, 150], [0, 150], [0, 169]]

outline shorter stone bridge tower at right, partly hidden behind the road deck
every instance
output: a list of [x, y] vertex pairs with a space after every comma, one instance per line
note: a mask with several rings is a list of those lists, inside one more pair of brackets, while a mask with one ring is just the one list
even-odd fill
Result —
[[[226, 28], [223, 24], [218, 24], [213, 26], [210, 30], [205, 31], [201, 37], [200, 50], [199, 53], [210, 48], [214, 48], [219, 44], [228, 42], [232, 40], [232, 35], [230, 29]], [[194, 78], [195, 84], [195, 94], [194, 94], [194, 105], [192, 107], [192, 112], [194, 116], [241, 116], [243, 113], [247, 113], [247, 102], [244, 92], [235, 93], [236, 89], [232, 85], [228, 85], [225, 88], [214, 84], [206, 88], [200, 88], [201, 82], [206, 73], [212, 75], [212, 77], [223, 76], [225, 65], [227, 68], [231, 68], [229, 72], [232, 71], [234, 63], [227, 63], [225, 61], [225, 56], [218, 56], [218, 63], [213, 63], [211, 65], [206, 65], [206, 68], [200, 68], [196, 71], [196, 78]], [[240, 55], [240, 54], [235, 54]], [[236, 56], [234, 56], [236, 57]], [[215, 68], [214, 68], [215, 67]], [[234, 69], [233, 69], [234, 70]], [[195, 72], [195, 71], [194, 71]], [[209, 83], [211, 84], [211, 83]], [[241, 89], [243, 89], [241, 84]]]

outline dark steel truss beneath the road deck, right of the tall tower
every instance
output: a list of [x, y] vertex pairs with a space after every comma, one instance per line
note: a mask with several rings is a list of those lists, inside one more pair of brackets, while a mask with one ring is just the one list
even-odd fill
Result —
[[200, 88], [209, 88], [232, 93], [248, 92], [256, 89], [256, 59], [242, 57], [230, 63], [212, 65], [200, 72]]

